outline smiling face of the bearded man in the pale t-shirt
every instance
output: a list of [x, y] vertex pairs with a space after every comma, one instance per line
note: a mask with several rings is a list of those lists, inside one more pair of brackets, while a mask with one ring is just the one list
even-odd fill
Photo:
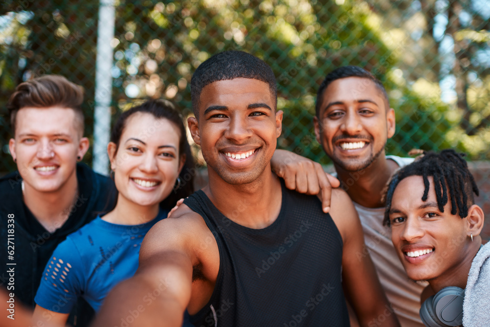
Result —
[[359, 171], [380, 154], [395, 130], [394, 111], [373, 81], [340, 78], [328, 85], [314, 118], [318, 142], [336, 167]]

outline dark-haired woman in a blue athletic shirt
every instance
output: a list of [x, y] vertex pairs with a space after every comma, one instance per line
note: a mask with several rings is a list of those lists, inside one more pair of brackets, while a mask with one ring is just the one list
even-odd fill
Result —
[[[78, 297], [97, 312], [107, 293], [136, 272], [147, 231], [193, 192], [185, 127], [168, 101], [151, 100], [125, 111], [114, 125], [107, 152], [117, 203], [53, 252], [35, 297], [34, 321], [65, 326]], [[142, 310], [146, 301], [150, 295], [142, 299]]]

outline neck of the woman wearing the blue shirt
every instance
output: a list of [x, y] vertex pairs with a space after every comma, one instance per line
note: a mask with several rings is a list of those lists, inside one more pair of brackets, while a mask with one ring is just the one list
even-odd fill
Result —
[[102, 220], [118, 225], [141, 225], [155, 219], [159, 210], [159, 203], [139, 205], [119, 193], [116, 207], [102, 216]]

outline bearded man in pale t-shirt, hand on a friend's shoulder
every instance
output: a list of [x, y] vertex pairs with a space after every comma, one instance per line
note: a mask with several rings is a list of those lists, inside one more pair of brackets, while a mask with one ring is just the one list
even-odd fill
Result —
[[[392, 303], [385, 316], [369, 326], [379, 326], [393, 312], [401, 326], [423, 326], [418, 310], [423, 284], [410, 280], [396, 255], [390, 229], [383, 226], [383, 189], [393, 172], [413, 161], [385, 155], [385, 145], [395, 132], [395, 113], [381, 82], [356, 66], [338, 68], [321, 83], [314, 117], [315, 134], [332, 159], [337, 177], [359, 213], [366, 249]], [[324, 211], [329, 210], [330, 182], [318, 163], [289, 151], [278, 150], [272, 169], [298, 192], [322, 192]], [[321, 172], [321, 173], [320, 173]], [[333, 185], [335, 186], [335, 185]], [[352, 326], [358, 326], [351, 314]]]

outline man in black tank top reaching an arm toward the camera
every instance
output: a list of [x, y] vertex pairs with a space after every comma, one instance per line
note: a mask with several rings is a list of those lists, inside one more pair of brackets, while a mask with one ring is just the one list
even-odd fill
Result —
[[[270, 67], [242, 51], [202, 63], [188, 124], [209, 184], [147, 234], [140, 268], [107, 297], [96, 326], [398, 326], [352, 202], [284, 187], [270, 168], [281, 134]], [[344, 296], [345, 295], [345, 296]], [[144, 313], [143, 313], [144, 312]], [[129, 316], [128, 316], [129, 315]]]

